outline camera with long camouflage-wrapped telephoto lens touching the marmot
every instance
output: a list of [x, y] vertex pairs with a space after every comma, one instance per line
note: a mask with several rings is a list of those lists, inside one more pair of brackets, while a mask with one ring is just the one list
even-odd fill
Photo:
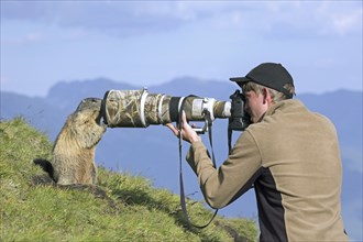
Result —
[[109, 128], [146, 128], [151, 124], [177, 122], [180, 110], [184, 110], [188, 121], [206, 121], [208, 118], [212, 122], [215, 119], [229, 118], [232, 128], [241, 130], [248, 124], [242, 95], [237, 92], [232, 95], [230, 102], [196, 96], [150, 94], [146, 88], [109, 90], [105, 94], [101, 112], [103, 122]]

